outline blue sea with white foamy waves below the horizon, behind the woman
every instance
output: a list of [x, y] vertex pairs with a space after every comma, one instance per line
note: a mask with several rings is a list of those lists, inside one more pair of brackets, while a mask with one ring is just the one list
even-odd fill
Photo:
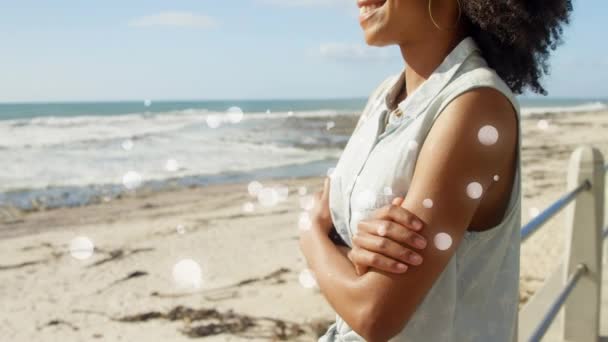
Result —
[[[141, 191], [325, 175], [365, 101], [0, 103], [0, 208], [73, 207]], [[522, 115], [608, 109], [608, 99], [520, 103]]]

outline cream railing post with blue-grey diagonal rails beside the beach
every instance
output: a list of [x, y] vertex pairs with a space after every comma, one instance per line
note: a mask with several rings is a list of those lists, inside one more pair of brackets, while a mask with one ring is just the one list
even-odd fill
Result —
[[[568, 193], [521, 229], [522, 243], [562, 209], [566, 210], [564, 260], [519, 311], [518, 341], [540, 341], [563, 310], [560, 338], [597, 342], [600, 332], [602, 261], [608, 250], [605, 177], [608, 164], [599, 150], [577, 148], [568, 165]], [[568, 204], [572, 205], [568, 206]], [[604, 260], [602, 260], [604, 254]]]

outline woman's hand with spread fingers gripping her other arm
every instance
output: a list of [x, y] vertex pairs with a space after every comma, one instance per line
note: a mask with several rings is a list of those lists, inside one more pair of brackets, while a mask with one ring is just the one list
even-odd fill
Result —
[[357, 234], [352, 239], [353, 248], [348, 252], [358, 275], [365, 274], [370, 266], [403, 273], [409, 267], [406, 264], [422, 263], [422, 256], [412, 248], [424, 249], [427, 245], [424, 237], [416, 233], [423, 223], [402, 208], [401, 203], [403, 198], [397, 197], [391, 205], [376, 210], [372, 217], [358, 223]]

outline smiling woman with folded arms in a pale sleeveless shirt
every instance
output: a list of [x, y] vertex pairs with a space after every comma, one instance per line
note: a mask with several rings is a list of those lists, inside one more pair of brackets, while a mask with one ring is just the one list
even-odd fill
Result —
[[407, 66], [370, 96], [300, 235], [336, 311], [319, 341], [512, 341], [521, 224], [515, 94], [546, 93], [539, 78], [572, 5], [358, 6], [366, 42], [398, 45]]

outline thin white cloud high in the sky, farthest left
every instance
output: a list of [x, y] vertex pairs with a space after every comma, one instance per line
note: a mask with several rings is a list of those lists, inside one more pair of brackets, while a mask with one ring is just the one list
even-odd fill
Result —
[[158, 14], [135, 18], [129, 22], [132, 27], [190, 27], [211, 28], [216, 25], [215, 19], [192, 12], [166, 11]]

